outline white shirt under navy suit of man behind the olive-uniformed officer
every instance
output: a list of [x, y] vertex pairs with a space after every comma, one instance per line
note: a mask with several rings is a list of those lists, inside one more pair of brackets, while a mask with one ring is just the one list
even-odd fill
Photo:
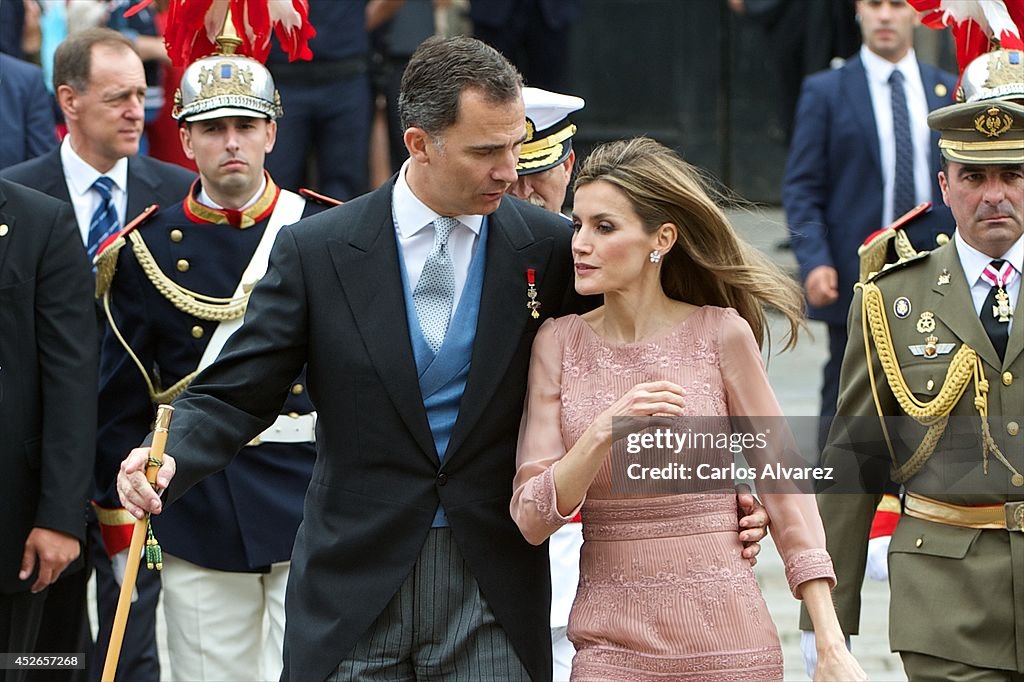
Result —
[[860, 60], [867, 72], [867, 88], [871, 93], [874, 127], [879, 134], [879, 152], [882, 161], [882, 224], [884, 227], [898, 218], [893, 215], [893, 187], [896, 171], [896, 137], [893, 134], [892, 86], [889, 78], [894, 70], [903, 74], [903, 91], [910, 116], [910, 139], [913, 143], [913, 185], [918, 204], [932, 201], [931, 147], [932, 131], [928, 128], [928, 97], [921, 80], [918, 57], [911, 49], [897, 63], [885, 59], [866, 46], [860, 47]]

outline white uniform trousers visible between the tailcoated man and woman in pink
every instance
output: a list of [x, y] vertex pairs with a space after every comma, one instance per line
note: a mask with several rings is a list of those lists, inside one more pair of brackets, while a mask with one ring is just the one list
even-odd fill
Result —
[[548, 541], [551, 557], [551, 655], [554, 681], [567, 682], [575, 647], [565, 636], [569, 610], [580, 585], [580, 548], [583, 524], [566, 523]]

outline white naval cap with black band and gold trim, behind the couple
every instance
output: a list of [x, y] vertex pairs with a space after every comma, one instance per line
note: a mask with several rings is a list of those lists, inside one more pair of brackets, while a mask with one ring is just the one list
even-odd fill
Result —
[[526, 108], [526, 139], [519, 151], [516, 172], [529, 175], [554, 168], [572, 151], [575, 133], [568, 117], [584, 108], [584, 100], [541, 88], [522, 89]]

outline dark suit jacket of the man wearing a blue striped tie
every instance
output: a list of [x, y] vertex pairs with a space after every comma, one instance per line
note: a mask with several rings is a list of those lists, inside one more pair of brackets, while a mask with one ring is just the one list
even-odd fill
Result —
[[[60, 147], [0, 171], [0, 177], [19, 182], [50, 197], [71, 202], [60, 163]], [[184, 199], [196, 174], [181, 166], [150, 157], [128, 157], [128, 210], [125, 222], [151, 204], [169, 206]], [[123, 226], [123, 225], [122, 225]], [[81, 241], [81, 235], [79, 236]]]

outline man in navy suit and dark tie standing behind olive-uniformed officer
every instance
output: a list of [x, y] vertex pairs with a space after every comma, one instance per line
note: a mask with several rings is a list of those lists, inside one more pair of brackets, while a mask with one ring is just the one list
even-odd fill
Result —
[[[925, 119], [929, 111], [948, 103], [955, 77], [918, 62], [912, 47], [916, 14], [905, 0], [858, 0], [856, 8], [864, 44], [842, 69], [804, 82], [782, 187], [809, 316], [828, 325], [830, 355], [821, 388], [824, 418], [836, 414], [847, 310], [859, 274], [857, 247], [924, 202], [935, 208], [906, 230], [915, 248], [933, 248], [952, 224], [936, 181], [938, 133], [929, 131]], [[912, 144], [910, 154], [899, 157], [889, 83], [894, 72], [905, 83]], [[897, 161], [913, 169], [909, 205], [898, 201], [905, 195], [896, 196]], [[827, 420], [819, 444], [825, 434]]]

